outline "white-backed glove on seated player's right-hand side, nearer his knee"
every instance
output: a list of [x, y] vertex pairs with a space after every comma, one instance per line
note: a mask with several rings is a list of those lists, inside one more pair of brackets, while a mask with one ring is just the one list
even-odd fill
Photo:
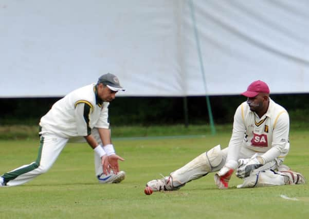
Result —
[[265, 164], [261, 156], [252, 157], [250, 159], [240, 159], [236, 176], [239, 178], [246, 178], [250, 175], [252, 170], [258, 169]]

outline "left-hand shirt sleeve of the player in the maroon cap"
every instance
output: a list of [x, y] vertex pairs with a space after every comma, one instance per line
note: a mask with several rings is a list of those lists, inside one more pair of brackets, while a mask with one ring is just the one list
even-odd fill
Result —
[[245, 134], [243, 106], [240, 105], [234, 115], [232, 136], [228, 145], [228, 153], [226, 159], [226, 166], [236, 169], [238, 166], [239, 152]]

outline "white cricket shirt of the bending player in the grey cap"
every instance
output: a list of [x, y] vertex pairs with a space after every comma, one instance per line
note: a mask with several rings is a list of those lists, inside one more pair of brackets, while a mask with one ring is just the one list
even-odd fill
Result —
[[108, 129], [109, 104], [98, 98], [96, 84], [74, 90], [54, 103], [41, 118], [42, 133], [71, 138], [87, 136], [94, 127]]

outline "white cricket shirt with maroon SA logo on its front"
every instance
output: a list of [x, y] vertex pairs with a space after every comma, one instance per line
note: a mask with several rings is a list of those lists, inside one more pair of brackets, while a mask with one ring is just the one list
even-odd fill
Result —
[[[265, 152], [265, 162], [274, 160], [289, 149], [289, 116], [287, 111], [269, 98], [267, 112], [260, 118], [250, 110], [247, 102], [242, 103], [234, 115], [233, 131], [227, 155], [228, 166], [237, 168], [241, 147]], [[249, 157], [248, 157], [249, 158]]]

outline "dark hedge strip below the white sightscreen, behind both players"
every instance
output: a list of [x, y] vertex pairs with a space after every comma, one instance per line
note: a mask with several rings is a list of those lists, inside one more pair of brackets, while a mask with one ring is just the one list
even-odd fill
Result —
[[[292, 122], [308, 123], [309, 94], [271, 95], [284, 106]], [[0, 125], [37, 125], [60, 97], [53, 98], [0, 98]], [[215, 124], [229, 124], [235, 109], [246, 98], [240, 95], [211, 96], [210, 103]], [[209, 123], [206, 98], [187, 97], [189, 124]], [[126, 125], [184, 124], [184, 98], [182, 97], [117, 97], [110, 106], [110, 122]]]

